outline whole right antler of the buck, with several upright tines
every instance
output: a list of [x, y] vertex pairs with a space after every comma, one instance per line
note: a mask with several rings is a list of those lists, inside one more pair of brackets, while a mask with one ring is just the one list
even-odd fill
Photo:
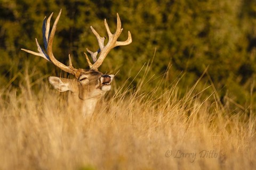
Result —
[[[95, 31], [92, 26], [92, 32], [94, 33], [94, 35], [96, 36], [100, 49], [97, 52], [91, 52], [89, 49], [86, 48], [87, 52], [89, 52], [92, 56], [93, 62], [94, 64], [92, 64], [88, 58], [88, 56], [85, 54], [86, 56], [86, 60], [90, 66], [90, 69], [92, 70], [98, 70], [98, 67], [102, 64], [103, 60], [106, 58], [106, 56], [108, 55], [108, 53], [110, 52], [110, 50], [116, 46], [125, 46], [125, 45], [129, 45], [132, 43], [132, 36], [130, 31], [128, 31], [128, 38], [126, 41], [117, 41], [117, 38], [121, 35], [121, 32], [123, 31], [123, 28], [121, 28], [121, 20], [119, 18], [119, 15], [117, 13], [117, 26], [116, 26], [116, 32], [114, 34], [112, 34], [109, 30], [108, 27], [108, 23], [105, 19], [105, 27], [108, 33], [108, 43], [106, 46], [104, 46], [104, 41], [105, 41], [105, 37], [100, 37], [99, 33], [97, 31]], [[98, 53], [100, 53], [99, 58], [97, 60], [97, 55]]]

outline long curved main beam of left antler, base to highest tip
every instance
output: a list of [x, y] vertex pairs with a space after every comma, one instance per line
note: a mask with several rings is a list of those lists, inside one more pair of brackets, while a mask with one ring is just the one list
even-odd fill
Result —
[[[56, 20], [54, 21], [53, 26], [52, 26], [52, 30], [51, 30], [51, 34], [50, 34], [49, 41], [48, 41], [48, 46], [47, 46], [47, 53], [48, 53], [48, 55], [51, 59], [51, 62], [54, 65], [56, 65], [57, 67], [59, 67], [61, 70], [65, 71], [65, 72], [76, 75], [77, 69], [75, 69], [72, 66], [72, 64], [69, 65], [69, 66], [66, 66], [66, 65], [62, 64], [61, 62], [56, 60], [56, 58], [54, 57], [54, 55], [52, 53], [53, 38], [54, 38], [54, 35], [55, 35], [55, 31], [56, 31], [56, 28], [57, 28], [58, 21], [60, 19], [60, 14], [61, 14], [61, 10], [60, 10]], [[71, 60], [69, 61], [69, 63], [71, 63]]]

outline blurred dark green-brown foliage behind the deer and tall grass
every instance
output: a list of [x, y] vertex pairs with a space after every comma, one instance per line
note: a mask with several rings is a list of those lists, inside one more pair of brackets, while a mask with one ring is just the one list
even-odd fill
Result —
[[216, 89], [223, 104], [229, 100], [245, 111], [255, 107], [256, 1], [250, 0], [0, 0], [1, 89], [19, 88], [25, 72], [35, 91], [50, 75], [73, 78], [20, 50], [37, 51], [35, 38], [43, 45], [44, 16], [54, 12], [52, 24], [60, 8], [53, 43], [60, 62], [68, 64], [71, 54], [74, 67], [88, 68], [83, 52], [99, 48], [90, 25], [107, 37], [103, 20], [114, 32], [118, 12], [124, 28], [118, 40], [126, 40], [131, 31], [133, 42], [111, 50], [99, 68], [102, 73], [118, 73], [117, 87], [127, 81], [135, 89], [146, 76], [155, 80], [144, 89], [150, 92], [164, 76], [170, 84], [161, 90], [179, 80], [182, 96], [201, 78], [198, 92], [211, 86], [204, 94]]

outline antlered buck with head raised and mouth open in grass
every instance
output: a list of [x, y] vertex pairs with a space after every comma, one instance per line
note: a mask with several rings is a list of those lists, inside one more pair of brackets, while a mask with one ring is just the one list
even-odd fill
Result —
[[[92, 56], [93, 64], [90, 62], [88, 56], [85, 54], [86, 61], [90, 66], [89, 70], [85, 69], [75, 69], [72, 66], [70, 55], [69, 55], [69, 66], [62, 64], [59, 62], [52, 53], [52, 44], [54, 34], [57, 28], [57, 23], [59, 21], [61, 14], [61, 10], [59, 15], [57, 16], [52, 30], [50, 31], [50, 20], [53, 13], [49, 16], [46, 20], [46, 17], [43, 21], [43, 41], [45, 50], [38, 44], [36, 39], [37, 45], [37, 52], [33, 52], [28, 49], [21, 49], [27, 53], [41, 56], [45, 60], [52, 62], [55, 66], [59, 67], [61, 70], [68, 72], [70, 74], [75, 75], [75, 79], [65, 79], [65, 78], [58, 78], [58, 77], [49, 77], [49, 82], [54, 86], [55, 89], [58, 91], [71, 91], [71, 95], [68, 97], [69, 104], [77, 105], [76, 108], [78, 112], [82, 112], [84, 116], [92, 115], [95, 109], [95, 106], [98, 100], [106, 94], [106, 91], [111, 89], [111, 81], [114, 78], [113, 74], [102, 74], [98, 71], [99, 66], [102, 64], [103, 60], [106, 58], [110, 50], [116, 46], [124, 46], [129, 45], [132, 43], [132, 37], [130, 31], [128, 31], [128, 38], [126, 41], [117, 41], [117, 38], [120, 36], [123, 28], [121, 28], [121, 20], [117, 13], [117, 28], [116, 32], [112, 34], [109, 30], [108, 23], [105, 19], [105, 27], [108, 33], [108, 43], [107, 45], [104, 44], [105, 37], [100, 37], [99, 33], [95, 31], [92, 26], [91, 30], [96, 36], [100, 49], [97, 52], [91, 52], [89, 49], [86, 48], [87, 52], [89, 52]], [[97, 58], [97, 55], [99, 57]]]

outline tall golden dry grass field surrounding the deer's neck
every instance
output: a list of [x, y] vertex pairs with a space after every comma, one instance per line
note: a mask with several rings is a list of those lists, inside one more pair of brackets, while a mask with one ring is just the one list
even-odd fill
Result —
[[179, 80], [159, 89], [169, 83], [164, 76], [149, 93], [143, 88], [151, 79], [136, 88], [114, 82], [94, 115], [83, 118], [75, 104], [67, 106], [67, 94], [24, 80], [1, 90], [0, 169], [256, 167], [255, 114], [230, 111], [214, 90], [202, 97], [204, 89], [191, 87], [181, 97]]

